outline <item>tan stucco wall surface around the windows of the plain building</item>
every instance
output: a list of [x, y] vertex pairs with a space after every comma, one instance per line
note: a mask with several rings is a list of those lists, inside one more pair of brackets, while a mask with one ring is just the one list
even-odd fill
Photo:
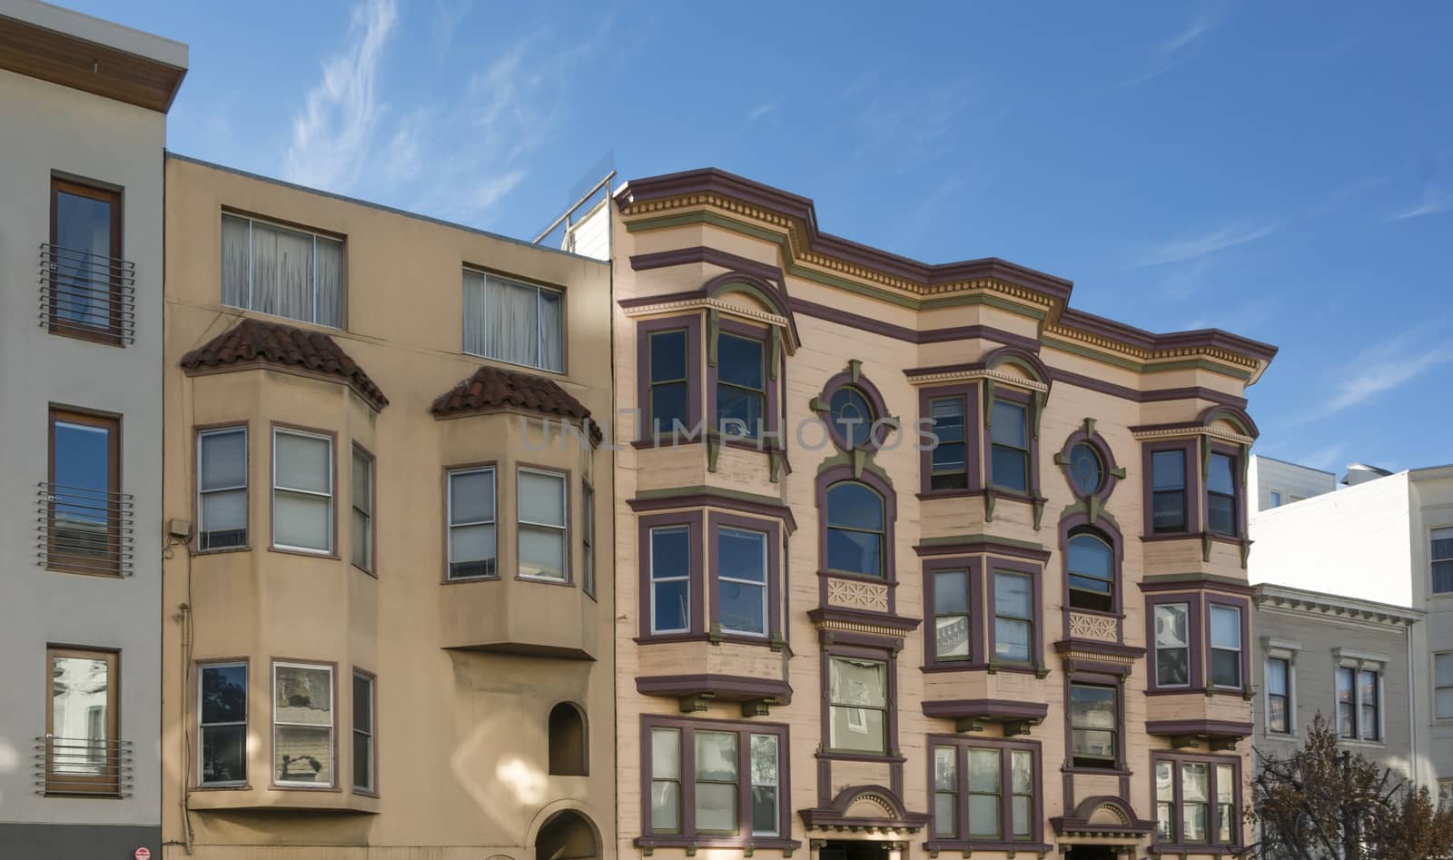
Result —
[[[382, 411], [346, 385], [285, 368], [182, 372], [187, 350], [253, 315], [221, 305], [224, 208], [346, 237], [346, 330], [298, 325], [327, 331], [362, 366], [389, 398]], [[246, 421], [250, 430], [248, 549], [189, 555], [179, 545], [164, 567], [169, 856], [182, 856], [190, 840], [199, 857], [400, 857], [429, 845], [440, 860], [527, 860], [541, 825], [561, 809], [588, 816], [610, 856], [610, 455], [558, 442], [532, 450], [520, 421], [530, 421], [538, 436], [538, 417], [437, 421], [429, 411], [437, 395], [490, 363], [459, 352], [461, 269], [468, 263], [565, 291], [567, 373], [541, 375], [594, 414], [609, 414], [609, 269], [182, 158], [167, 160], [167, 231], [166, 517], [196, 520], [193, 429]], [[334, 540], [341, 558], [269, 549], [273, 423], [336, 434]], [[353, 443], [375, 456], [376, 577], [347, 559]], [[479, 462], [497, 463], [501, 577], [442, 584], [445, 469]], [[570, 472], [571, 585], [514, 578], [517, 463]], [[599, 601], [580, 587], [581, 481], [596, 491]], [[190, 607], [189, 644], [182, 604]], [[559, 648], [593, 660], [485, 646]], [[250, 784], [189, 792], [196, 767], [193, 664], [221, 658], [250, 661]], [[341, 790], [272, 786], [273, 660], [337, 664]], [[378, 677], [378, 798], [349, 787], [352, 668]], [[587, 713], [590, 776], [548, 774], [546, 719], [559, 702]]]

